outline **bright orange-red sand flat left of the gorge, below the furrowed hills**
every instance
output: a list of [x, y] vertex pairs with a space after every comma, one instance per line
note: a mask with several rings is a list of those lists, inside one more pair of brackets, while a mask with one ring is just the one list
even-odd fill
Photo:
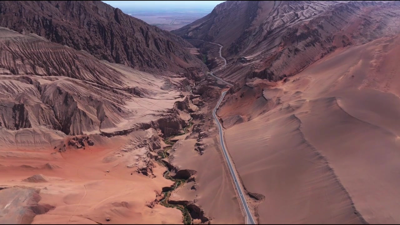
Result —
[[[135, 139], [145, 132], [134, 132], [128, 137]], [[51, 154], [52, 150], [42, 153], [13, 150], [19, 153], [18, 157], [0, 158], [0, 183], [6, 187], [18, 185], [39, 189], [42, 198], [39, 203], [55, 207], [46, 214], [36, 215], [34, 224], [182, 223], [182, 213], [178, 209], [147, 206], [161, 194], [162, 187], [173, 182], [162, 176], [165, 167], [158, 164], [152, 169], [154, 178], [137, 173], [136, 167], [127, 168], [135, 163], [135, 158], [146, 156], [140, 155], [139, 149], [121, 151], [126, 140], [125, 137], [114, 137], [112, 145], [102, 148], [56, 154]], [[42, 174], [40, 177], [44, 179], [23, 181], [36, 174]], [[0, 195], [4, 201], [7, 197], [3, 193], [1, 191]], [[14, 207], [18, 209], [23, 204]], [[18, 213], [14, 215], [24, 216]], [[106, 221], [108, 217], [110, 221]]]

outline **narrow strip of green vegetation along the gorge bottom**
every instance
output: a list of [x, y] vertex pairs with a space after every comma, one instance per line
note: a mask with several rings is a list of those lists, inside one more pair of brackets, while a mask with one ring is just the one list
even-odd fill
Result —
[[160, 155], [160, 159], [157, 160], [158, 163], [160, 163], [164, 167], [167, 167], [167, 169], [168, 169], [168, 171], [166, 171], [164, 173], [164, 177], [166, 179], [170, 179], [171, 181], [175, 182], [174, 187], [170, 191], [164, 192], [164, 198], [160, 201], [160, 204], [165, 206], [165, 207], [168, 207], [168, 208], [176, 208], [176, 209], [179, 209], [180, 211], [182, 211], [183, 223], [184, 224], [191, 224], [192, 223], [192, 217], [190, 217], [190, 213], [189, 213], [188, 209], [186, 208], [186, 206], [183, 206], [183, 205], [170, 204], [170, 203], [168, 203], [168, 199], [169, 199], [169, 197], [171, 195], [171, 192], [174, 191], [175, 189], [177, 189], [178, 187], [180, 187], [181, 185], [184, 185], [184, 183], [186, 183], [186, 180], [185, 179], [174, 179], [174, 178], [172, 178], [170, 176], [169, 167], [162, 161], [162, 159], [168, 158], [167, 152], [168, 152], [168, 150], [172, 149], [172, 145], [175, 144], [172, 141], [170, 141], [170, 139], [173, 138], [173, 137], [179, 136], [179, 135], [186, 135], [188, 133], [188, 129], [190, 127], [192, 127], [192, 125], [193, 125], [193, 123], [190, 122], [190, 121], [192, 121], [192, 119], [193, 118], [190, 118], [190, 120], [189, 120], [189, 126], [185, 127], [183, 129], [184, 133], [179, 133], [178, 135], [171, 136], [168, 139], [164, 140], [164, 143], [166, 143], [167, 145], [171, 145], [171, 146], [168, 146], [168, 147], [164, 148], [164, 150], [162, 152], [158, 153], [158, 155]]

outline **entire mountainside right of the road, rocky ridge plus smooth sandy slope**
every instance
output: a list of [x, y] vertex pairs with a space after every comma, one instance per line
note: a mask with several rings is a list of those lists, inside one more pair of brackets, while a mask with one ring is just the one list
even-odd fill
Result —
[[228, 1], [174, 31], [213, 58], [197, 39], [224, 46], [215, 74], [239, 84], [217, 114], [258, 223], [399, 223], [399, 15], [394, 1]]

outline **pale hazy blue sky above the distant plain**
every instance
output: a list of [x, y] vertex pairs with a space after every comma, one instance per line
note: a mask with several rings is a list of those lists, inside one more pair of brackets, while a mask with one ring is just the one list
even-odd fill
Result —
[[114, 8], [214, 8], [225, 1], [102, 1]]

